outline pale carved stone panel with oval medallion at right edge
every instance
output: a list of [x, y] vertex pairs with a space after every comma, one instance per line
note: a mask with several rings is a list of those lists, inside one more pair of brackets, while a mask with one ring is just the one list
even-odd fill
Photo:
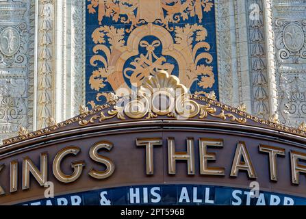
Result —
[[306, 3], [275, 1], [275, 60], [281, 123], [305, 120]]

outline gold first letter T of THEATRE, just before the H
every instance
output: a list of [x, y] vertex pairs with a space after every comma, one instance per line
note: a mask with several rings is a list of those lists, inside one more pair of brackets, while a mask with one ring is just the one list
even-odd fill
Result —
[[146, 175], [154, 174], [153, 147], [162, 145], [162, 138], [137, 138], [137, 146], [146, 146]]

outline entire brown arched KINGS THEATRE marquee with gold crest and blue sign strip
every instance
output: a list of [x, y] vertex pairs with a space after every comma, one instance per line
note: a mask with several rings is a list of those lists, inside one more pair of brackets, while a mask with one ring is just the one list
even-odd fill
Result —
[[188, 94], [161, 71], [129, 98], [4, 140], [0, 203], [305, 205], [305, 142], [305, 127]]

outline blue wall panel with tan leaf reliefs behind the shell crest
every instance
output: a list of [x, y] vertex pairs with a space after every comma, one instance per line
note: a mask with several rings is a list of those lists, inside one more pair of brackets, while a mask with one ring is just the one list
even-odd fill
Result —
[[86, 103], [129, 92], [167, 70], [218, 96], [214, 1], [88, 1]]

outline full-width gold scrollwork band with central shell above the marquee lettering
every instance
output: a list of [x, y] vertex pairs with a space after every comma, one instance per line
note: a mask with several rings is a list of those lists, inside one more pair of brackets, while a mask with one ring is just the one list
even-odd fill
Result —
[[[205, 96], [199, 94], [204, 94]], [[151, 98], [152, 96], [155, 96], [156, 98], [153, 103]], [[162, 99], [166, 100], [166, 105], [156, 105], [162, 101]], [[174, 108], [173, 102], [171, 101], [174, 101]], [[197, 101], [203, 101], [205, 104], [199, 104]], [[155, 104], [155, 107], [151, 106], [153, 104]], [[112, 107], [112, 109], [108, 110], [107, 115], [105, 115], [103, 110], [110, 109], [110, 107]], [[132, 108], [133, 111], [129, 112], [127, 110], [130, 108]], [[169, 75], [164, 70], [158, 72], [154, 76], [144, 79], [144, 83], [140, 87], [140, 90], [138, 90], [137, 94], [112, 100], [105, 105], [98, 105], [92, 110], [88, 110], [85, 107], [81, 107], [81, 110], [82, 114], [79, 116], [75, 116], [74, 118], [70, 118], [57, 124], [55, 124], [54, 121], [53, 126], [31, 133], [29, 133], [24, 127], [21, 127], [21, 129], [18, 131], [19, 136], [3, 140], [3, 145], [13, 144], [25, 139], [42, 136], [62, 127], [71, 125], [72, 123], [79, 123], [79, 125], [84, 126], [88, 125], [89, 123], [96, 123], [97, 121], [101, 123], [103, 120], [108, 120], [114, 117], [117, 117], [120, 120], [125, 120], [126, 116], [136, 119], [150, 119], [165, 115], [166, 112], [166, 116], [171, 118], [197, 117], [199, 119], [203, 119], [207, 118], [207, 116], [213, 116], [222, 120], [229, 119], [241, 124], [246, 123], [247, 120], [252, 120], [255, 123], [266, 125], [277, 130], [287, 131], [300, 136], [306, 136], [305, 122], [303, 122], [298, 128], [286, 127], [278, 123], [277, 116], [271, 116], [269, 120], [264, 120], [258, 118], [257, 116], [247, 114], [239, 109], [230, 107], [229, 105], [222, 104], [215, 100], [215, 95], [213, 92], [210, 94], [204, 92], [188, 94], [188, 90], [179, 82], [179, 79], [173, 75]]]

